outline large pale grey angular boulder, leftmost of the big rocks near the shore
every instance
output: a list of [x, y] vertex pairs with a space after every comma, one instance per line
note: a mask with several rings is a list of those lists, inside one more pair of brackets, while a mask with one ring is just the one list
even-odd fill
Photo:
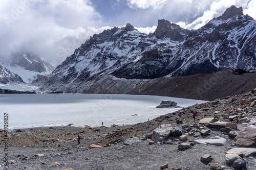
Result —
[[170, 136], [170, 132], [173, 130], [172, 125], [161, 125], [153, 131], [152, 140], [154, 142], [161, 142]]

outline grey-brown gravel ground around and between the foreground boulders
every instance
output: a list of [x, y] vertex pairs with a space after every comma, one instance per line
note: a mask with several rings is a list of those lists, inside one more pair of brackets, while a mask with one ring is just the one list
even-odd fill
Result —
[[[244, 105], [240, 101], [244, 99]], [[112, 127], [53, 127], [33, 128], [20, 130], [21, 132], [9, 133], [8, 158], [9, 167], [2, 169], [160, 169], [163, 164], [168, 164], [168, 168], [184, 169], [210, 169], [210, 163], [217, 162], [223, 169], [233, 169], [226, 164], [224, 152], [236, 148], [234, 140], [228, 138], [219, 129], [210, 129], [211, 134], [200, 136], [199, 139], [208, 139], [214, 136], [221, 136], [227, 139], [225, 146], [195, 144], [190, 149], [178, 150], [178, 137], [170, 137], [173, 144], [148, 144], [142, 140], [139, 143], [124, 145], [127, 138], [138, 137], [145, 139], [145, 134], [153, 132], [160, 125], [171, 124], [177, 126], [176, 120], [181, 119], [183, 125], [200, 125], [199, 120], [204, 117], [215, 117], [218, 120], [229, 122], [228, 115], [256, 111], [254, 107], [246, 107], [249, 102], [255, 99], [254, 93], [247, 93], [233, 97], [218, 99], [205, 104], [199, 104], [183, 108], [174, 113], [162, 115], [153, 120], [133, 126], [112, 126]], [[197, 120], [193, 120], [191, 110], [199, 111]], [[200, 125], [202, 126], [202, 125]], [[246, 125], [238, 124], [238, 131]], [[82, 138], [80, 144], [77, 135]], [[4, 135], [0, 134], [0, 157], [4, 157]], [[46, 139], [53, 139], [47, 141]], [[188, 137], [188, 143], [195, 138]], [[104, 146], [106, 143], [110, 147], [89, 149], [90, 144]], [[35, 156], [44, 154], [44, 156]], [[200, 161], [204, 154], [210, 154], [214, 160], [209, 163]], [[256, 169], [256, 156], [252, 155], [243, 158], [249, 170]], [[57, 165], [52, 165], [58, 162]], [[0, 168], [1, 169], [1, 168]], [[71, 169], [70, 169], [71, 170]]]

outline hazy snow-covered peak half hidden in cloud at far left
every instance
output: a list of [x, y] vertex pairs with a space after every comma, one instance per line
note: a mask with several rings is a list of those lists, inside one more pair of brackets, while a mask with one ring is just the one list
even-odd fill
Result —
[[24, 82], [31, 83], [40, 76], [49, 75], [54, 67], [30, 53], [16, 53], [3, 59], [2, 65], [20, 76]]

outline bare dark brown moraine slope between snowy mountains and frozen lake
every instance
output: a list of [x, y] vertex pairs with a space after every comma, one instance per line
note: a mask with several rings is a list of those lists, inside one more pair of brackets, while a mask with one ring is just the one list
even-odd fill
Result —
[[[87, 84], [83, 93], [162, 95], [212, 101], [249, 92], [256, 87], [256, 73], [225, 69], [211, 74], [162, 77], [153, 80], [99, 79]], [[93, 85], [92, 85], [92, 84]]]

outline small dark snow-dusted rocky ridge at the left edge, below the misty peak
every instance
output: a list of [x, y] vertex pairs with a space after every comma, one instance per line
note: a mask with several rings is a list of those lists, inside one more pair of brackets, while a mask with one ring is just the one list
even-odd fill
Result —
[[0, 83], [24, 83], [22, 78], [0, 64]]

